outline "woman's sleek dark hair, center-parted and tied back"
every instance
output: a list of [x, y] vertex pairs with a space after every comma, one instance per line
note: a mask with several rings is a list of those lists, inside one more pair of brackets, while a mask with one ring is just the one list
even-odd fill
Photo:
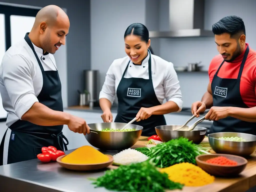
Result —
[[[129, 27], [127, 27], [127, 29], [124, 32], [124, 38], [127, 35], [138, 35], [141, 37], [141, 40], [145, 41], [146, 43], [149, 40], [148, 30], [146, 26], [141, 23], [133, 23]], [[154, 55], [152, 47], [150, 46], [148, 49], [150, 50], [151, 54]]]

